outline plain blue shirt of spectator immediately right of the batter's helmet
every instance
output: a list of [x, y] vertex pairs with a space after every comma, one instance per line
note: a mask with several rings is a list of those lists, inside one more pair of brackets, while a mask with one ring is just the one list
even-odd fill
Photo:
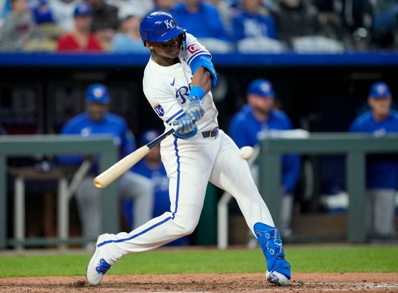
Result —
[[179, 26], [186, 28], [190, 34], [197, 38], [227, 40], [227, 34], [217, 8], [210, 3], [200, 1], [200, 8], [196, 13], [189, 12], [187, 5], [180, 3], [170, 13]]

